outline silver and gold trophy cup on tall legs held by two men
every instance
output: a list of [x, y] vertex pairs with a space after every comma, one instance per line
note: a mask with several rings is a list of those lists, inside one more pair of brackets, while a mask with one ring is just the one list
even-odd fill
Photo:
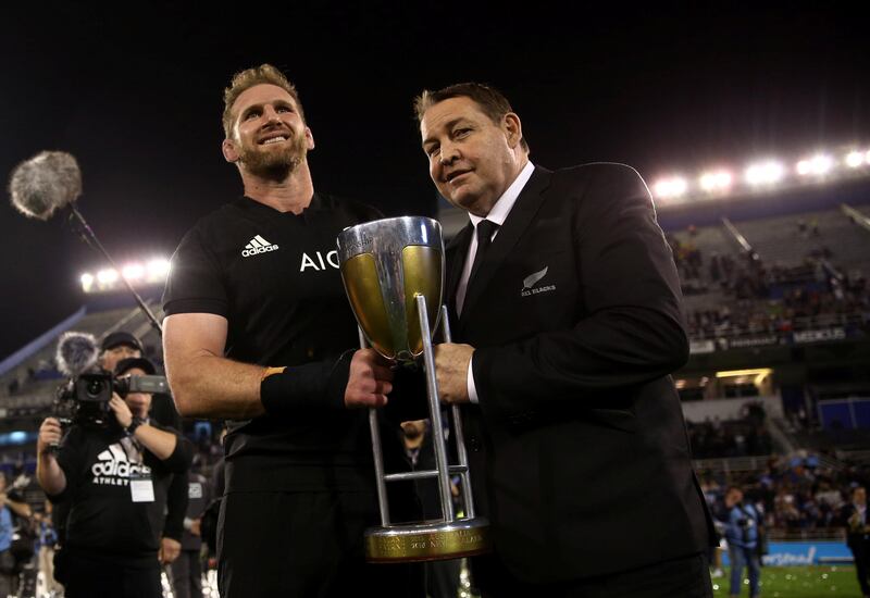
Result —
[[[432, 331], [440, 325], [450, 341], [447, 310], [442, 306], [444, 240], [437, 221], [420, 216], [384, 219], [346, 228], [338, 235], [338, 259], [350, 306], [360, 326], [360, 345], [371, 346], [394, 362], [423, 360], [433, 431], [435, 470], [385, 473], [376, 410], [369, 411], [381, 526], [365, 532], [369, 562], [456, 559], [489, 550], [488, 525], [474, 515], [468, 453], [459, 407], [452, 410], [458, 463], [450, 465], [442, 431]], [[462, 486], [463, 516], [453, 511], [450, 475]], [[437, 478], [442, 518], [393, 524], [386, 483]]]

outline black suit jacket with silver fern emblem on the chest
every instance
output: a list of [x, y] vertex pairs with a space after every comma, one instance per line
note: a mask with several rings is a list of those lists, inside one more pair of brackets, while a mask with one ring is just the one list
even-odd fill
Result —
[[551, 582], [705, 550], [712, 522], [670, 373], [688, 357], [680, 283], [643, 179], [620, 164], [536, 167], [455, 297], [476, 348], [463, 406], [478, 511], [513, 575]]

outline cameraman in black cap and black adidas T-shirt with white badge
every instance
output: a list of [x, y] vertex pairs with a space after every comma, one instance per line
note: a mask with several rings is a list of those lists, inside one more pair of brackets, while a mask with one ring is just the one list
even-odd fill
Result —
[[[145, 358], [121, 360], [115, 376], [153, 375]], [[69, 499], [66, 541], [55, 576], [66, 598], [160, 598], [158, 551], [173, 473], [185, 472], [192, 444], [148, 420], [151, 396], [112, 394], [109, 424], [75, 421], [64, 434], [39, 428], [37, 478], [52, 501]], [[59, 448], [54, 448], [59, 447]]]

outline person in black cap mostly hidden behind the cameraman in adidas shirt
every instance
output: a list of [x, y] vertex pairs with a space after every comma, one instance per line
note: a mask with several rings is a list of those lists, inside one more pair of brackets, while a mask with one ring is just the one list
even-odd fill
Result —
[[[139, 338], [126, 331], [115, 331], [103, 338], [100, 344], [100, 365], [109, 372], [122, 359], [145, 357]], [[172, 397], [164, 394], [151, 397], [151, 418], [160, 425], [182, 432], [182, 416], [175, 409]], [[163, 524], [163, 536], [160, 538], [160, 562], [172, 563], [182, 553], [184, 536], [184, 518], [187, 512], [188, 472], [172, 476], [166, 497], [166, 520]]]

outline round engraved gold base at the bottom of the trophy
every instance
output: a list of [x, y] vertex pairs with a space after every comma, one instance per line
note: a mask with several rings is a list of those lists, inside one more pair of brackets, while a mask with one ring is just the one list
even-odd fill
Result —
[[484, 518], [370, 527], [365, 531], [365, 560], [398, 563], [482, 555], [490, 550], [488, 532], [489, 522]]

